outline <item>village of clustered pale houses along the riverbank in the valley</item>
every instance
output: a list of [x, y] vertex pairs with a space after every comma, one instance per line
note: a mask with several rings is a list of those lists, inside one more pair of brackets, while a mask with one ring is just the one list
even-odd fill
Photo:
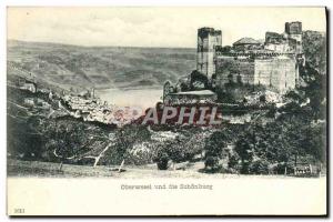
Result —
[[123, 125], [135, 118], [130, 107], [117, 107], [101, 101], [94, 95], [94, 89], [52, 91], [30, 73], [14, 67], [9, 67], [9, 69], [17, 74], [16, 83], [10, 83], [10, 85], [32, 93], [32, 97], [23, 98], [23, 105], [42, 111], [47, 118], [70, 115], [83, 121], [110, 125]]

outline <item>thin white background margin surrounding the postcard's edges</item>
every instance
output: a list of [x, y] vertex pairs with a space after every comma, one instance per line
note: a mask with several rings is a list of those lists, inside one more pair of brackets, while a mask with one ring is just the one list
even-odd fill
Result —
[[[1, 131], [1, 138], [0, 141], [2, 141], [2, 148], [1, 148], [1, 163], [2, 163], [2, 169], [0, 170], [0, 179], [1, 179], [1, 184], [2, 189], [0, 191], [0, 215], [1, 215], [1, 221], [9, 221], [10, 219], [6, 215], [6, 8], [8, 6], [326, 6], [330, 11], [332, 12], [333, 9], [333, 1], [330, 0], [300, 0], [300, 1], [290, 1], [290, 0], [279, 0], [279, 1], [264, 1], [264, 0], [255, 0], [255, 1], [250, 1], [250, 0], [232, 0], [232, 1], [226, 1], [226, 0], [4, 0], [0, 1], [0, 30], [1, 30], [1, 36], [0, 36], [0, 48], [1, 48], [1, 53], [0, 53], [0, 98], [1, 98], [1, 103], [0, 103], [0, 109], [1, 109], [1, 114], [0, 114], [0, 131]], [[331, 14], [332, 16], [332, 14]], [[330, 19], [330, 18], [329, 18]], [[329, 22], [329, 29], [332, 30], [332, 22]], [[330, 31], [331, 32], [331, 31]], [[331, 40], [331, 38], [330, 38]], [[332, 43], [330, 42], [330, 51], [332, 48]], [[332, 58], [332, 57], [331, 57]], [[330, 63], [331, 63], [331, 58], [330, 58]], [[330, 74], [330, 73], [327, 73]], [[332, 77], [330, 78], [330, 84], [332, 85]], [[332, 88], [332, 87], [331, 87]], [[331, 89], [330, 89], [330, 94], [331, 94]], [[332, 95], [332, 94], [331, 94]], [[331, 101], [330, 101], [331, 103]], [[330, 113], [332, 114], [332, 112]], [[331, 117], [332, 119], [332, 117]], [[330, 121], [331, 123], [331, 121]], [[330, 131], [330, 138], [332, 137], [332, 131]], [[332, 160], [332, 150], [330, 152], [330, 160]], [[330, 169], [331, 171], [331, 169]], [[331, 171], [332, 172], [332, 171]], [[330, 204], [332, 206], [332, 204]], [[329, 212], [332, 213], [330, 210]], [[20, 219], [22, 221], [30, 220], [30, 219]], [[57, 219], [48, 219], [51, 221], [54, 221]], [[68, 221], [70, 219], [61, 219], [63, 221]], [[89, 221], [94, 221], [95, 219], [89, 219]], [[120, 219], [117, 219], [120, 220]], [[144, 220], [144, 219], [141, 219]], [[155, 219], [159, 220], [159, 219]], [[155, 221], [153, 220], [153, 221]], [[179, 220], [179, 219], [178, 219]], [[241, 219], [236, 219], [241, 220]], [[274, 219], [278, 220], [278, 219]], [[294, 219], [287, 219], [290, 221], [293, 221]], [[315, 220], [315, 219], [310, 219], [310, 221]]]

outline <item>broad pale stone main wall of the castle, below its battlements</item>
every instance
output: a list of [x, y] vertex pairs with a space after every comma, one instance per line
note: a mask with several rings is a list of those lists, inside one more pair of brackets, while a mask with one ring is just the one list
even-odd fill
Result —
[[216, 87], [224, 88], [230, 81], [261, 84], [284, 93], [296, 85], [297, 69], [294, 58], [286, 56], [265, 59], [249, 57], [216, 58]]

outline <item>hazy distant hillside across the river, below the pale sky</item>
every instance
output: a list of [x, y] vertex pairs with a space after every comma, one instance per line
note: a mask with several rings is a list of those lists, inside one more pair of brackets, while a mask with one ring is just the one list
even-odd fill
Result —
[[[195, 49], [8, 41], [9, 63], [69, 88], [162, 87], [195, 69]], [[10, 73], [9, 73], [10, 74]]]

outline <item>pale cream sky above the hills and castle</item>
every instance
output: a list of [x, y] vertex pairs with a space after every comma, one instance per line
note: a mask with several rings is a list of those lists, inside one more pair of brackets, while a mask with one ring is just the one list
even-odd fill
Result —
[[77, 46], [195, 48], [201, 27], [222, 30], [222, 46], [282, 33], [284, 22], [325, 31], [324, 8], [8, 8], [8, 39]]

